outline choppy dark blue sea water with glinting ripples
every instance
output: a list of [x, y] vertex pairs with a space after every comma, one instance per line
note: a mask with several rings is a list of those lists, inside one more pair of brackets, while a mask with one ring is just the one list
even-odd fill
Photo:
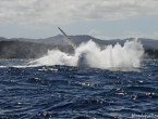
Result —
[[0, 119], [158, 118], [157, 60], [133, 69], [27, 63], [0, 61]]

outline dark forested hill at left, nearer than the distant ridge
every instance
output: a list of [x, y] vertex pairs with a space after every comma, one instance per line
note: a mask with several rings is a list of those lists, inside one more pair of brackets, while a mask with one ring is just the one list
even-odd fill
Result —
[[47, 54], [48, 50], [59, 49], [73, 52], [71, 47], [44, 44], [24, 41], [0, 41], [0, 58], [37, 58]]

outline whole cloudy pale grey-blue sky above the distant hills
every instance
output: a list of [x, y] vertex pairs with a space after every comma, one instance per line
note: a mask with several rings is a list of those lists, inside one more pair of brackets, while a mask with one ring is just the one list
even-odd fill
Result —
[[158, 0], [0, 0], [0, 37], [158, 40]]

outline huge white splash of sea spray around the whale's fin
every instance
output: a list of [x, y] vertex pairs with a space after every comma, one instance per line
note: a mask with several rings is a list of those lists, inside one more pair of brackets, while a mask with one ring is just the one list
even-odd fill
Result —
[[33, 62], [36, 65], [68, 65], [93, 68], [132, 68], [139, 67], [144, 54], [143, 44], [137, 39], [126, 41], [124, 45], [105, 45], [101, 49], [89, 40], [77, 47], [70, 55], [59, 50], [48, 51], [47, 55]]

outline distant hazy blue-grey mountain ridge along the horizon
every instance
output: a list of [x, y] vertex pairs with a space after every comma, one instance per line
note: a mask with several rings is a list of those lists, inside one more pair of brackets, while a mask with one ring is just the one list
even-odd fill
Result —
[[[72, 41], [80, 45], [83, 42], [87, 42], [88, 40], [93, 40], [99, 45], [108, 45], [108, 44], [117, 44], [118, 42], [123, 45], [126, 40], [134, 40], [134, 38], [126, 38], [126, 39], [111, 39], [111, 40], [101, 40], [98, 38], [94, 38], [88, 35], [80, 35], [80, 36], [69, 36]], [[35, 43], [44, 43], [44, 44], [56, 44], [56, 45], [68, 45], [68, 42], [65, 41], [65, 37], [62, 35], [57, 35], [54, 37], [49, 37], [45, 39], [28, 39], [28, 38], [3, 38], [0, 37], [0, 41], [25, 41], [25, 42], [35, 42]], [[145, 39], [145, 38], [138, 38], [138, 41], [142, 42], [145, 50], [153, 49], [158, 50], [158, 40], [154, 39]]]

